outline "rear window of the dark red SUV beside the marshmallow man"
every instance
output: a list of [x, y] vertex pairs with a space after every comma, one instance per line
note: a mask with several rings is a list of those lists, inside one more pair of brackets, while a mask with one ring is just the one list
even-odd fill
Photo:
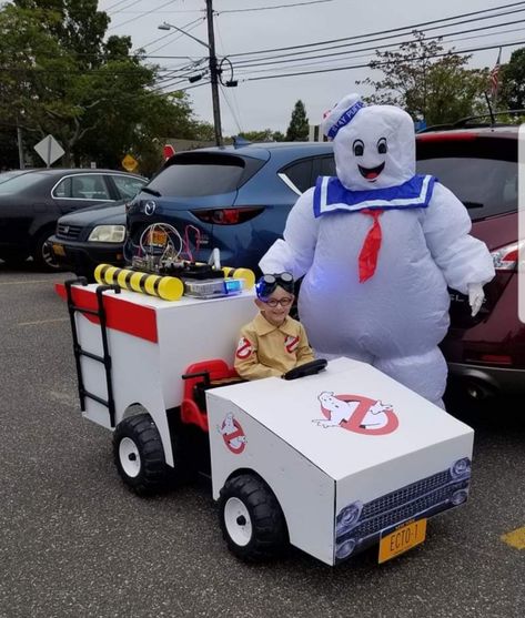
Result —
[[517, 210], [516, 140], [444, 140], [417, 144], [417, 172], [433, 174], [473, 221]]

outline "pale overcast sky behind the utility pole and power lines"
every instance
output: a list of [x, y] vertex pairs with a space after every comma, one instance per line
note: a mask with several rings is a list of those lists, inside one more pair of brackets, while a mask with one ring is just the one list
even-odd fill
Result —
[[[282, 7], [295, 4], [291, 7]], [[509, 7], [509, 4], [517, 4]], [[273, 9], [270, 9], [272, 8]], [[282, 8], [277, 8], [282, 7]], [[503, 8], [507, 7], [507, 8]], [[170, 32], [158, 29], [166, 21], [183, 28], [193, 37], [208, 41], [206, 22], [202, 18], [205, 8], [204, 0], [99, 0], [99, 9], [111, 17], [109, 34], [129, 34], [133, 48], [144, 48], [151, 62], [163, 68], [165, 90], [188, 88], [188, 77], [199, 74], [201, 67], [205, 69], [206, 49], [190, 37], [175, 30]], [[297, 77], [282, 77], [280, 79], [254, 80], [254, 78], [314, 71], [354, 64], [366, 64], [374, 52], [357, 52], [353, 55], [322, 58], [329, 51], [315, 48], [300, 48], [282, 52], [266, 52], [254, 55], [246, 52], [261, 52], [293, 45], [307, 45], [322, 41], [343, 39], [356, 36], [366, 36], [378, 31], [456, 17], [485, 9], [498, 9], [494, 13], [483, 13], [472, 17], [458, 18], [458, 21], [476, 19], [470, 23], [450, 26], [447, 29], [433, 30], [428, 36], [437, 33], [451, 34], [444, 39], [445, 49], [454, 47], [456, 51], [472, 48], [487, 48], [505, 43], [519, 43], [514, 47], [504, 47], [502, 62], [509, 59], [513, 49], [525, 47], [525, 28], [521, 20], [525, 20], [525, 2], [516, 3], [512, 0], [213, 0], [213, 8], [218, 13], [214, 20], [215, 47], [219, 58], [229, 57], [234, 65], [233, 77], [239, 80], [238, 88], [223, 88], [221, 91], [221, 115], [224, 135], [233, 135], [239, 131], [253, 131], [272, 129], [285, 131], [290, 122], [292, 109], [297, 99], [305, 107], [310, 122], [319, 124], [323, 112], [331, 108], [349, 92], [367, 91], [355, 81], [372, 77], [381, 78], [367, 68], [349, 69], [334, 72], [306, 74]], [[249, 9], [249, 10], [248, 10]], [[255, 10], [256, 9], [256, 10]], [[259, 10], [266, 9], [266, 10]], [[232, 12], [229, 12], [232, 11]], [[484, 16], [494, 16], [508, 11], [512, 14], [501, 14], [492, 19], [481, 20]], [[200, 20], [200, 21], [196, 21]], [[497, 28], [497, 23], [509, 23]], [[525, 23], [525, 22], [524, 22]], [[188, 26], [189, 24], [189, 26]], [[423, 30], [435, 24], [422, 27]], [[442, 26], [442, 24], [440, 24]], [[489, 29], [474, 31], [482, 27]], [[465, 32], [471, 30], [470, 32]], [[384, 34], [383, 34], [384, 36]], [[390, 34], [392, 37], [392, 34]], [[411, 37], [397, 37], [396, 41]], [[446, 41], [446, 43], [445, 43]], [[374, 47], [385, 42], [368, 44], [359, 42], [360, 48]], [[332, 43], [332, 47], [337, 43]], [[341, 44], [341, 43], [339, 43]], [[346, 51], [351, 48], [337, 48], [332, 52]], [[354, 47], [354, 49], [356, 49]], [[309, 51], [309, 59], [296, 60], [295, 63], [261, 64], [275, 60], [287, 60], [296, 51]], [[476, 51], [473, 53], [471, 67], [493, 67], [497, 58], [497, 49]], [[277, 58], [279, 57], [279, 58]], [[313, 57], [313, 58], [312, 58]], [[255, 61], [259, 67], [241, 67], [240, 62]], [[264, 60], [266, 59], [266, 60]], [[201, 65], [195, 65], [201, 60]], [[253, 62], [252, 62], [253, 63]], [[297, 65], [301, 64], [301, 65]], [[190, 65], [189, 69], [183, 69]], [[224, 80], [230, 79], [230, 70], [224, 67]], [[170, 71], [170, 72], [168, 72]], [[173, 72], [179, 71], [179, 72]], [[182, 75], [181, 75], [182, 71]], [[188, 90], [195, 114], [208, 122], [213, 121], [211, 87], [204, 77], [201, 82], [195, 82], [198, 88]]]

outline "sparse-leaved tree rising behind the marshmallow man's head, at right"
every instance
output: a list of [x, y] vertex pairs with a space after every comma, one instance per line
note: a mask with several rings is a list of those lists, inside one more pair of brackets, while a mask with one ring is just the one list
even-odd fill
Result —
[[427, 124], [450, 123], [479, 113], [488, 83], [488, 69], [466, 69], [470, 55], [444, 51], [440, 40], [426, 41], [413, 31], [414, 40], [400, 51], [377, 51], [370, 68], [384, 73], [382, 80], [366, 80], [375, 94], [372, 103], [404, 108], [414, 120]]

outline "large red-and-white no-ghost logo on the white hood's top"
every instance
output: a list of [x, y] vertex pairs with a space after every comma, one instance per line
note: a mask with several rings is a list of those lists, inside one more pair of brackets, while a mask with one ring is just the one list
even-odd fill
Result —
[[317, 395], [324, 418], [314, 418], [320, 427], [342, 427], [356, 434], [385, 435], [397, 429], [397, 416], [388, 404], [361, 395]]

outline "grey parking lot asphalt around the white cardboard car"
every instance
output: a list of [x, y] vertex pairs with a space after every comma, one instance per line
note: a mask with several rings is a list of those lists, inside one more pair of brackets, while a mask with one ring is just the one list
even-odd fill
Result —
[[432, 519], [420, 547], [381, 566], [376, 549], [335, 568], [299, 550], [245, 565], [221, 538], [205, 480], [138, 498], [111, 435], [82, 419], [53, 291], [70, 276], [0, 261], [0, 617], [525, 615], [523, 402], [467, 413], [451, 398], [476, 432], [471, 499]]

